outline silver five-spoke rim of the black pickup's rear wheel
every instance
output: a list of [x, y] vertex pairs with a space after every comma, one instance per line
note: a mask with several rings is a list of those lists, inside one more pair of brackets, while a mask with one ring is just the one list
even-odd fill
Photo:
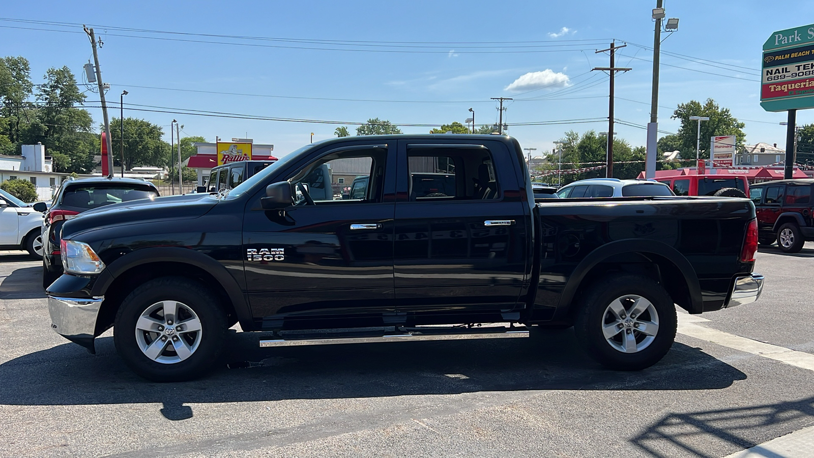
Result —
[[636, 294], [617, 297], [602, 315], [602, 334], [614, 350], [645, 350], [659, 333], [659, 313], [653, 303]]

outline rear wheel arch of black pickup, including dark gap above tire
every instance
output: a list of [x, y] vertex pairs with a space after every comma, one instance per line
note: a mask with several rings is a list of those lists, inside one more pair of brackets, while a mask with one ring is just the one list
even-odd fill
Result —
[[[642, 269], [655, 264], [658, 269]], [[557, 307], [556, 315], [566, 318], [571, 305], [586, 284], [608, 271], [632, 271], [653, 278], [663, 285], [673, 302], [691, 314], [703, 311], [701, 284], [687, 258], [670, 245], [657, 240], [615, 240], [593, 250], [574, 269]]]

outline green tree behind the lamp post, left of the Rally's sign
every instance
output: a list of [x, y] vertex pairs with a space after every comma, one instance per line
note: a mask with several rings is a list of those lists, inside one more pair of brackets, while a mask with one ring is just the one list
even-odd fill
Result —
[[[120, 165], [120, 119], [110, 123], [114, 164]], [[169, 145], [161, 139], [164, 130], [150, 121], [134, 117], [125, 118], [125, 170], [134, 166], [148, 165], [162, 167], [169, 162]], [[190, 137], [187, 137], [189, 139]], [[190, 144], [190, 143], [188, 143]], [[182, 141], [182, 155], [183, 141]], [[177, 154], [176, 154], [177, 160]]]

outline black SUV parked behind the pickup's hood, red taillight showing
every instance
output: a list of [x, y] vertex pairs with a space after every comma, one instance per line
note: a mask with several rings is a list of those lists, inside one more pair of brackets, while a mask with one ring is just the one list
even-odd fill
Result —
[[66, 221], [90, 209], [158, 196], [158, 189], [153, 183], [137, 178], [98, 177], [63, 181], [50, 208], [42, 202], [33, 207], [45, 214], [45, 218], [39, 221], [43, 249], [42, 287], [47, 288], [62, 275], [59, 234]]

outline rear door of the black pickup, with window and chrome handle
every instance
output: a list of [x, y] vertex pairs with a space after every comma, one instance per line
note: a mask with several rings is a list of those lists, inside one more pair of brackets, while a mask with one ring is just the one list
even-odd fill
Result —
[[[530, 262], [518, 159], [497, 141], [441, 142], [399, 141], [396, 308], [511, 310]], [[443, 176], [443, 190], [416, 184], [428, 176]]]

